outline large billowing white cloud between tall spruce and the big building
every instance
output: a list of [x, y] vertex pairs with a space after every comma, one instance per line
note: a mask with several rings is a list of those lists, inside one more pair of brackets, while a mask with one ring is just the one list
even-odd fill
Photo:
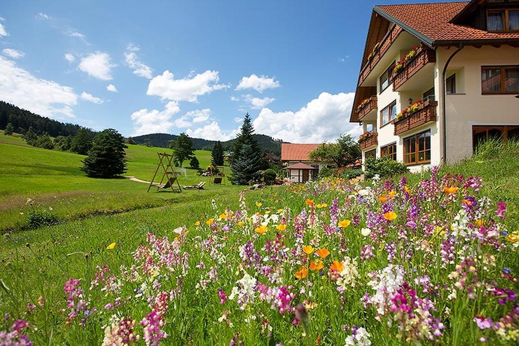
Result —
[[289, 142], [320, 143], [348, 133], [358, 136], [362, 128], [349, 123], [354, 92], [332, 95], [322, 92], [296, 112], [261, 110], [253, 125], [256, 133]]

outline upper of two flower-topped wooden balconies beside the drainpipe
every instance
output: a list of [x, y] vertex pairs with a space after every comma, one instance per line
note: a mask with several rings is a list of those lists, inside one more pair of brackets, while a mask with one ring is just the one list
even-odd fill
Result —
[[430, 62], [436, 62], [436, 52], [427, 46], [413, 47], [393, 70], [393, 91], [397, 91], [409, 78]]

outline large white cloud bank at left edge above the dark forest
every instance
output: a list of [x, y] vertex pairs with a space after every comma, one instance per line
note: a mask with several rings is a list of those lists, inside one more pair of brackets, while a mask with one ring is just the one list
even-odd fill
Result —
[[38, 78], [0, 56], [0, 99], [39, 115], [57, 119], [73, 117], [74, 89]]

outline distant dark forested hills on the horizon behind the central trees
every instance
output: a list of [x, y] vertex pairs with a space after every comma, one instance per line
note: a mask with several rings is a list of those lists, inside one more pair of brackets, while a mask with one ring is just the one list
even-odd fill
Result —
[[[150, 134], [132, 137], [132, 139], [135, 141], [135, 143], [138, 144], [143, 144], [146, 139], [149, 139], [149, 143], [153, 145], [153, 147], [167, 148], [169, 141], [174, 140], [176, 137], [176, 135], [169, 134]], [[258, 144], [260, 144], [260, 147], [264, 153], [274, 153], [278, 156], [281, 155], [282, 141], [280, 139], [274, 139], [270, 136], [258, 134], [254, 135], [254, 138], [257, 140]], [[193, 142], [193, 148], [200, 150], [212, 150], [214, 143], [216, 143], [216, 141], [210, 141], [201, 138], [191, 138], [191, 141]], [[224, 150], [231, 150], [233, 147], [233, 141], [234, 139], [222, 142]]]

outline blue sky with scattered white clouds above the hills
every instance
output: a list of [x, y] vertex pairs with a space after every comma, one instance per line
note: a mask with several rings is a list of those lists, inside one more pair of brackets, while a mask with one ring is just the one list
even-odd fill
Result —
[[125, 136], [227, 140], [245, 112], [286, 141], [358, 135], [348, 118], [384, 3], [3, 0], [0, 99]]

